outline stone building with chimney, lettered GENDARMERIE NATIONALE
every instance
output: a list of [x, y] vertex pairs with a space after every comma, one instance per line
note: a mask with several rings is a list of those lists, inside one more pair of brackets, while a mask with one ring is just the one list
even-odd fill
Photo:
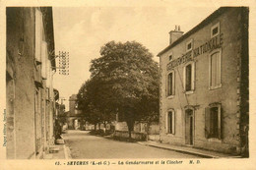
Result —
[[248, 13], [222, 7], [169, 32], [158, 54], [161, 142], [248, 156]]

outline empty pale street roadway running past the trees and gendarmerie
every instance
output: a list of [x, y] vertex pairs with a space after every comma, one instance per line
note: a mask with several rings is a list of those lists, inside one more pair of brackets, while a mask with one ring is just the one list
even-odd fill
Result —
[[197, 158], [195, 155], [91, 136], [89, 131], [69, 130], [63, 134], [66, 146], [75, 159], [89, 158]]

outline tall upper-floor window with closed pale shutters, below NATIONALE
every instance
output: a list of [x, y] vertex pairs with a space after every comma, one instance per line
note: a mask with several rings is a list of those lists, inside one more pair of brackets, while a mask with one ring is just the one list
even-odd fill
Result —
[[221, 50], [215, 50], [209, 59], [210, 89], [221, 87]]

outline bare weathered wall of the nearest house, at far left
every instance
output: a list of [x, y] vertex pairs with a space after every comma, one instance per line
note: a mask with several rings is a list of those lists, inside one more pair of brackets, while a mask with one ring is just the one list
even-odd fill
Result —
[[32, 158], [35, 154], [33, 10], [7, 8], [6, 14], [7, 61], [13, 64], [7, 82], [7, 97], [10, 97], [7, 99], [7, 157]]

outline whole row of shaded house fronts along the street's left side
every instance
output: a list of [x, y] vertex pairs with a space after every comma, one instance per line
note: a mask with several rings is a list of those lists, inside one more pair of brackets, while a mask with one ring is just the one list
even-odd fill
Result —
[[51, 8], [6, 8], [7, 158], [43, 158], [54, 143]]

